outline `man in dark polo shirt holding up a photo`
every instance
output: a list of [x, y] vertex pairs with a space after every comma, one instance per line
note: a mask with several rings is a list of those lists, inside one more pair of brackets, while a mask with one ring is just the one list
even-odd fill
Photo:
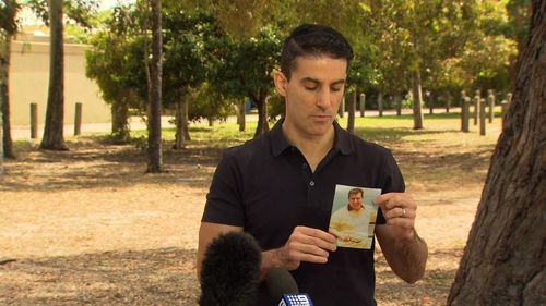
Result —
[[[198, 273], [209, 243], [246, 231], [262, 247], [262, 277], [290, 270], [316, 305], [376, 305], [373, 246], [337, 248], [328, 233], [335, 186], [380, 188], [376, 236], [393, 271], [407, 282], [424, 273], [427, 245], [415, 232], [417, 205], [389, 150], [334, 121], [353, 50], [336, 30], [302, 25], [284, 42], [276, 90], [285, 119], [227, 149], [207, 194], [199, 232]], [[269, 305], [264, 286], [257, 305]]]

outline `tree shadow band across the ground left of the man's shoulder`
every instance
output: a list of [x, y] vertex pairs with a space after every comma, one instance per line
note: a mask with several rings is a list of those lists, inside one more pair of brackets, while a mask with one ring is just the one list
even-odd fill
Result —
[[164, 143], [161, 175], [146, 174], [146, 152], [132, 145], [116, 145], [104, 137], [80, 137], [68, 142], [69, 151], [39, 150], [21, 145], [20, 158], [5, 162], [0, 182], [4, 191], [59, 191], [123, 187], [138, 183], [207, 186], [224, 147], [188, 146], [171, 149]]

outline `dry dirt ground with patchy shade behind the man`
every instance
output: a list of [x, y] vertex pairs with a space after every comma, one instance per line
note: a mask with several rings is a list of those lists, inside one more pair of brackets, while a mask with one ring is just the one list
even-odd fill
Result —
[[[66, 152], [35, 147], [20, 145], [0, 181], [0, 305], [197, 305], [199, 220], [219, 149], [166, 150], [167, 172], [143, 174], [131, 145], [80, 137]], [[492, 147], [396, 146], [430, 253], [424, 280], [410, 285], [378, 250], [379, 305], [446, 303]], [[418, 178], [451, 166], [467, 176]]]

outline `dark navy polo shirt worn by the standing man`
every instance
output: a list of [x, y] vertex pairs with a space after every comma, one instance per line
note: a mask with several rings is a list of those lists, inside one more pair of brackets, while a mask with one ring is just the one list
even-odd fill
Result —
[[[351, 135], [334, 122], [334, 146], [312, 172], [286, 140], [282, 121], [270, 133], [226, 149], [206, 196], [202, 221], [242, 227], [263, 250], [281, 247], [297, 225], [328, 231], [336, 185], [403, 192], [391, 152]], [[379, 209], [377, 224], [383, 224]], [[316, 306], [376, 305], [373, 249], [339, 247], [328, 264], [292, 271]], [[257, 305], [272, 305], [260, 287]]]

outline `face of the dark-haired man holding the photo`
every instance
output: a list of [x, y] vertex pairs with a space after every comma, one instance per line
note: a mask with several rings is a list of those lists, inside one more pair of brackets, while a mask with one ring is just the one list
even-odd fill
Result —
[[343, 99], [347, 61], [329, 57], [299, 57], [290, 81], [275, 74], [277, 91], [285, 97], [283, 127], [298, 137], [314, 138], [332, 128]]

